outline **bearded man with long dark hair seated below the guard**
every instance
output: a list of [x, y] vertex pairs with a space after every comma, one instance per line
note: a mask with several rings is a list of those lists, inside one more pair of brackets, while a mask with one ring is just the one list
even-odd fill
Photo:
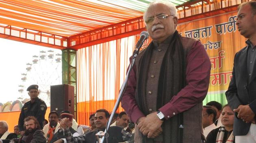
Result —
[[[42, 130], [40, 130], [40, 124], [33, 116], [28, 116], [24, 119], [24, 126], [26, 128], [22, 137], [12, 139], [10, 143], [46, 143], [46, 137]], [[2, 140], [3, 143], [9, 143], [10, 140]]]

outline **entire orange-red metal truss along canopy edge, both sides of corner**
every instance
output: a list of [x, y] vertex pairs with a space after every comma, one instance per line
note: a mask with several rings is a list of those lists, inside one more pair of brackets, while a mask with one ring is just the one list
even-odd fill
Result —
[[[248, 0], [195, 0], [176, 6], [179, 23], [193, 21], [236, 11], [237, 6]], [[143, 17], [137, 17], [121, 23], [116, 23], [99, 29], [91, 30], [70, 37], [63, 37], [33, 29], [24, 29], [11, 25], [0, 24], [0, 38], [27, 42], [50, 48], [72, 48], [78, 50], [95, 44], [137, 35], [145, 30]]]

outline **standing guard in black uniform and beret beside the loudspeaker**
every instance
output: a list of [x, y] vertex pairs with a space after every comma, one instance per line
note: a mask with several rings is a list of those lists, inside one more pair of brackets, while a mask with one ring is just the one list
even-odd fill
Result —
[[38, 98], [39, 92], [38, 92], [38, 85], [33, 84], [30, 85], [27, 88], [28, 95], [30, 97], [30, 101], [26, 102], [24, 106], [21, 109], [20, 112], [20, 118], [19, 118], [19, 129], [21, 131], [21, 134], [24, 133], [24, 119], [28, 116], [34, 116], [37, 118], [37, 121], [39, 122], [40, 126], [39, 129], [43, 128], [43, 120], [44, 116], [46, 114], [46, 103]]

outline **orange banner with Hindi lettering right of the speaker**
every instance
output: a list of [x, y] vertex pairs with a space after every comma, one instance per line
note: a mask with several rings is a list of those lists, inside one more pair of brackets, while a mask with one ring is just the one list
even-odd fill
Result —
[[208, 95], [223, 93], [228, 89], [234, 55], [245, 46], [246, 39], [235, 25], [236, 13], [181, 23], [177, 27], [182, 36], [199, 39], [210, 57], [212, 68]]

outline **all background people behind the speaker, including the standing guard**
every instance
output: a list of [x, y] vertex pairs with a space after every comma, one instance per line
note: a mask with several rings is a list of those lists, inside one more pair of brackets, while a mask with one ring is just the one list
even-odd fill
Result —
[[[45, 120], [46, 105], [38, 98], [38, 86], [31, 85], [27, 91], [30, 101], [22, 107], [14, 133], [9, 132], [6, 121], [0, 121], [1, 143], [99, 143], [108, 122], [111, 126], [104, 143], [135, 142], [135, 124], [124, 111], [113, 113], [113, 120], [109, 121], [109, 112], [98, 109], [89, 116], [90, 126], [78, 125], [69, 111], [62, 111], [60, 115], [51, 111]], [[202, 117], [202, 142], [234, 143], [234, 111], [229, 105], [222, 108], [217, 101], [210, 101], [203, 106]]]

